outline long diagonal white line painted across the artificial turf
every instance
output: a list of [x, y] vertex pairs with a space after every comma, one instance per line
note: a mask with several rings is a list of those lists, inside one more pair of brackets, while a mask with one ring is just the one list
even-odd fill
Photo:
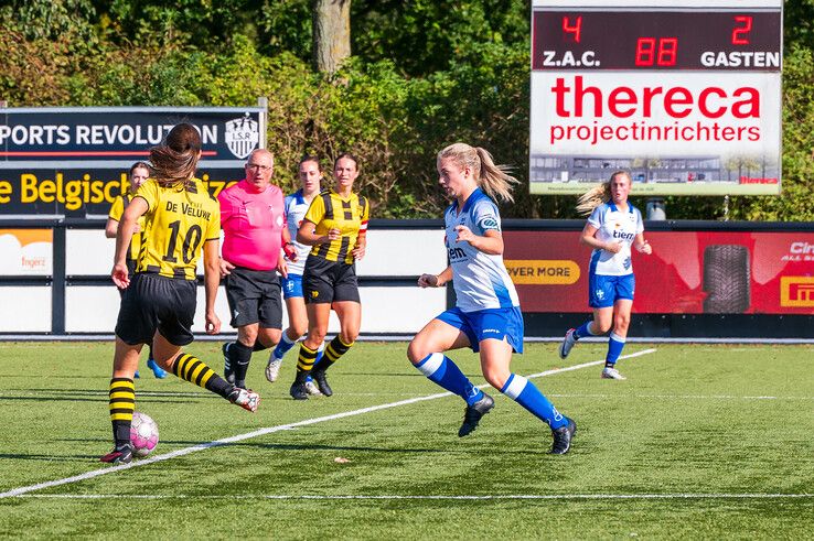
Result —
[[[620, 357], [620, 359], [631, 359], [634, 357], [641, 357], [642, 355], [649, 355], [655, 351], [656, 350], [652, 348], [643, 349], [641, 351], [636, 351], [630, 355], [624, 355]], [[582, 363], [581, 365], [574, 365], [574, 366], [569, 366], [565, 368], [554, 368], [551, 370], [545, 370], [542, 372], [533, 374], [531, 376], [526, 376], [526, 378], [528, 379], [543, 378], [545, 376], [551, 376], [554, 374], [561, 374], [561, 372], [568, 372], [572, 370], [579, 370], [581, 368], [587, 368], [587, 367], [596, 366], [600, 364], [604, 364], [604, 360], [592, 360], [590, 363]], [[484, 383], [478, 387], [479, 388], [489, 387], [489, 383]], [[362, 408], [358, 410], [345, 411], [342, 413], [334, 413], [332, 415], [324, 415], [324, 416], [319, 416], [314, 419], [307, 419], [304, 421], [298, 421], [296, 423], [280, 424], [277, 426], [267, 426], [265, 429], [256, 430], [253, 432], [247, 432], [245, 434], [238, 434], [238, 435], [231, 436], [231, 437], [224, 437], [222, 440], [215, 440], [213, 442], [202, 443], [200, 445], [193, 445], [191, 447], [181, 448], [178, 451], [173, 451], [171, 453], [165, 453], [163, 455], [150, 456], [148, 458], [142, 458], [139, 461], [131, 462], [130, 464], [120, 464], [118, 466], [95, 469], [93, 472], [86, 472], [84, 474], [74, 475], [72, 477], [65, 477], [63, 479], [50, 480], [45, 483], [38, 483], [36, 485], [29, 485], [26, 487], [13, 488], [6, 493], [0, 493], [0, 498], [11, 498], [14, 496], [21, 496], [26, 493], [32, 493], [34, 490], [42, 490], [43, 488], [52, 488], [52, 487], [56, 487], [60, 485], [67, 485], [69, 483], [77, 483], [81, 480], [93, 479], [94, 477], [98, 477], [100, 475], [111, 474], [114, 472], [120, 472], [122, 469], [129, 469], [129, 468], [138, 467], [138, 466], [147, 466], [148, 464], [153, 464], [153, 463], [161, 462], [161, 461], [169, 461], [170, 458], [176, 458], [179, 456], [189, 455], [190, 453], [195, 453], [196, 451], [204, 451], [204, 450], [212, 448], [212, 447], [218, 447], [221, 445], [228, 445], [231, 443], [237, 443], [244, 440], [250, 440], [253, 437], [263, 436], [266, 434], [274, 434], [275, 432], [281, 432], [283, 430], [293, 430], [299, 426], [308, 426], [310, 424], [322, 423], [325, 421], [335, 421], [336, 419], [344, 419], [349, 416], [362, 415], [364, 413], [371, 413], [371, 412], [379, 411], [379, 410], [388, 410], [390, 408], [398, 408], [400, 405], [409, 405], [409, 404], [414, 404], [417, 402], [424, 402], [427, 400], [435, 400], [438, 398], [445, 398], [445, 397], [450, 397], [450, 396], [452, 396], [451, 392], [439, 392], [437, 394], [428, 394], [426, 397], [416, 397], [416, 398], [410, 398], [407, 400], [399, 400], [398, 402], [389, 402], [386, 404], [372, 405], [369, 408]]]

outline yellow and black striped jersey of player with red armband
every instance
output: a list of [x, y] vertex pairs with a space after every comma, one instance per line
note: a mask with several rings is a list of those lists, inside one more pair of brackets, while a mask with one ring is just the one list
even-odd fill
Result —
[[313, 198], [303, 219], [315, 224], [317, 235], [328, 235], [329, 229], [339, 229], [341, 237], [336, 240], [314, 246], [311, 255], [329, 261], [353, 263], [351, 250], [356, 247], [360, 230], [367, 229], [369, 203], [366, 197], [351, 194], [341, 197], [333, 190], [324, 190]]

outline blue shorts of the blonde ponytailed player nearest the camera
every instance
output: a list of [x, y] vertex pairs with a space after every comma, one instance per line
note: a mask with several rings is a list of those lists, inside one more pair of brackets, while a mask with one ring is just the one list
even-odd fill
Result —
[[520, 306], [463, 312], [458, 306], [443, 312], [436, 320], [452, 325], [469, 338], [469, 347], [480, 351], [481, 340], [506, 338], [515, 353], [523, 353], [523, 314]]

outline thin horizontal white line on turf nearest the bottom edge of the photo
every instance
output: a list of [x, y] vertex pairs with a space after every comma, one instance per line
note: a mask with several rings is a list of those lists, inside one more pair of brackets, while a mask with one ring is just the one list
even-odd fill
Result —
[[184, 500], [671, 500], [671, 499], [806, 499], [814, 494], [678, 493], [678, 494], [492, 494], [492, 495], [291, 495], [291, 494], [26, 494], [35, 499], [184, 499]]

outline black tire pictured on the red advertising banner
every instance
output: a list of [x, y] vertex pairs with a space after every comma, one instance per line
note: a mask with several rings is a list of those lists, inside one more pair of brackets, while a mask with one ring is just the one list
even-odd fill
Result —
[[751, 303], [749, 249], [714, 245], [704, 250], [704, 312], [742, 314]]

